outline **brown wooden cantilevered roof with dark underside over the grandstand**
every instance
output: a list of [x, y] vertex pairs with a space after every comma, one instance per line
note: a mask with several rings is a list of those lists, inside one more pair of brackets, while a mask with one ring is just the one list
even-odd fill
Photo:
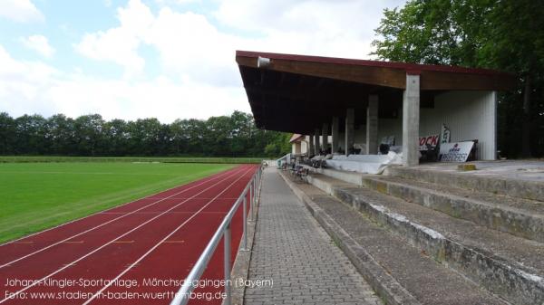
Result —
[[[257, 67], [257, 58], [270, 62]], [[445, 65], [379, 62], [238, 51], [236, 61], [257, 127], [310, 134], [331, 117], [355, 109], [363, 124], [368, 95], [377, 94], [380, 117], [398, 115], [406, 74], [420, 75], [422, 107], [431, 107], [444, 91], [502, 91], [514, 84], [511, 74]], [[342, 126], [342, 124], [340, 124]]]

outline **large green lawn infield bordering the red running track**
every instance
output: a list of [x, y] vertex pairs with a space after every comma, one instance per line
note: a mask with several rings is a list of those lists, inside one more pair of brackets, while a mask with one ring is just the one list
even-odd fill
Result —
[[0, 163], [0, 243], [234, 167], [196, 163]]

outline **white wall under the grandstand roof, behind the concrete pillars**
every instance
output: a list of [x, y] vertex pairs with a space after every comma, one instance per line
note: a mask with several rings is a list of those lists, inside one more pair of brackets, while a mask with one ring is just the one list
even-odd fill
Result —
[[[434, 108], [420, 112], [420, 136], [439, 134], [442, 123], [452, 131], [452, 141], [478, 139], [478, 158], [495, 159], [496, 147], [496, 92], [450, 91], [438, 95]], [[395, 145], [403, 145], [403, 118], [379, 119], [378, 141], [395, 137]], [[355, 143], [364, 143], [365, 127], [355, 130]]]

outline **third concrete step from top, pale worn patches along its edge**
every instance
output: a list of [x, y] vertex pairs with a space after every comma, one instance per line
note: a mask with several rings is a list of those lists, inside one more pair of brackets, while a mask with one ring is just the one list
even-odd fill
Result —
[[328, 176], [315, 174], [308, 180], [501, 298], [514, 304], [544, 303], [544, 243]]

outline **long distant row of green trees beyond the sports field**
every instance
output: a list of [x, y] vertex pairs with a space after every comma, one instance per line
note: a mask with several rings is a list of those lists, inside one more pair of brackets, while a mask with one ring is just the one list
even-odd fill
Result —
[[63, 114], [12, 118], [0, 113], [0, 155], [278, 157], [290, 151], [290, 135], [257, 129], [253, 117], [235, 111], [209, 119], [105, 120]]

